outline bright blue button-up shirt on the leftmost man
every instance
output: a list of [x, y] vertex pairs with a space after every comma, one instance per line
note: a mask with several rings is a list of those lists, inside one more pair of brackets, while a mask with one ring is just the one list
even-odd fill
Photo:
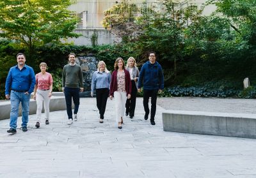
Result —
[[10, 68], [5, 82], [5, 94], [10, 94], [10, 89], [15, 91], [28, 91], [32, 93], [35, 87], [36, 79], [33, 68], [26, 64], [20, 70], [18, 65]]

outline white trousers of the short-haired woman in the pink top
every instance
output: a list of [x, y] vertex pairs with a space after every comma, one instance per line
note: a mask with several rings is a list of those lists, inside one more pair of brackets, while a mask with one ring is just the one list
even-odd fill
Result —
[[37, 105], [37, 110], [36, 110], [36, 120], [37, 122], [40, 122], [40, 119], [42, 117], [42, 108], [43, 108], [43, 101], [44, 101], [44, 113], [45, 113], [45, 120], [49, 120], [49, 114], [50, 114], [50, 109], [49, 109], [49, 103], [50, 103], [51, 98], [49, 97], [49, 90], [43, 91], [38, 89], [36, 91], [36, 105]]

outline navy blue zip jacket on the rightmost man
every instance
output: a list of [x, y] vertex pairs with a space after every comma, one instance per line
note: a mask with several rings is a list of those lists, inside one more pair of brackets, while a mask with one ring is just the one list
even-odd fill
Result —
[[163, 69], [157, 61], [154, 64], [151, 64], [149, 61], [143, 64], [140, 71], [138, 89], [141, 88], [142, 83], [143, 89], [146, 90], [164, 89]]

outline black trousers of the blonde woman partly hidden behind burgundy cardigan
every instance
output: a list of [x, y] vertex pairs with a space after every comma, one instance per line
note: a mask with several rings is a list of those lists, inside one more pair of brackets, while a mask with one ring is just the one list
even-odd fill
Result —
[[132, 93], [131, 93], [131, 98], [126, 100], [125, 113], [134, 117], [134, 111], [135, 111], [135, 107], [136, 107], [137, 87], [136, 87], [134, 80], [132, 80], [131, 82], [132, 82]]

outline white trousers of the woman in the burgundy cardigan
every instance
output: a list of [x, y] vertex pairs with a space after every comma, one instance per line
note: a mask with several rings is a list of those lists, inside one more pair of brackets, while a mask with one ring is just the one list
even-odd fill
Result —
[[126, 92], [115, 91], [115, 106], [116, 106], [116, 122], [121, 122], [121, 117], [124, 117], [125, 102], [127, 100]]

